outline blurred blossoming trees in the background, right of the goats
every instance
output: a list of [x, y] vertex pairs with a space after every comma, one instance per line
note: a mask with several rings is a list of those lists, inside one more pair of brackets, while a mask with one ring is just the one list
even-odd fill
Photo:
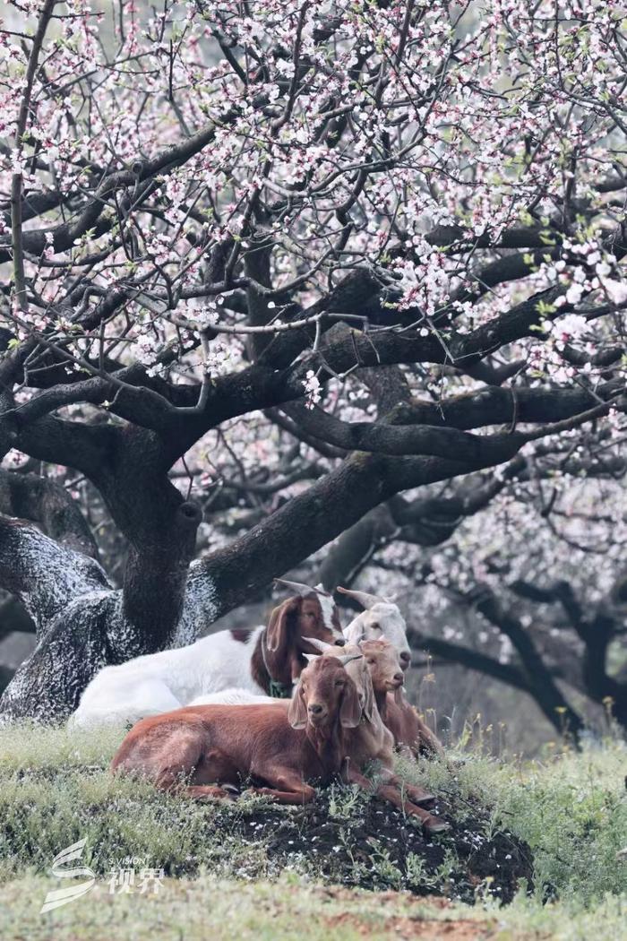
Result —
[[[545, 455], [534, 455], [480, 513], [481, 490], [467, 482], [409, 505], [397, 497], [325, 555], [329, 576], [359, 574], [366, 591], [397, 596], [445, 734], [444, 717], [456, 715], [460, 732], [470, 701], [494, 715], [498, 683], [531, 696], [559, 733], [627, 726], [625, 461], [603, 457], [601, 468], [587, 455], [582, 476], [580, 439], [577, 450], [566, 462], [551, 455], [558, 474], [539, 473]], [[465, 711], [462, 668], [475, 671]], [[480, 690], [477, 672], [488, 679]], [[414, 686], [425, 678], [416, 673]]]

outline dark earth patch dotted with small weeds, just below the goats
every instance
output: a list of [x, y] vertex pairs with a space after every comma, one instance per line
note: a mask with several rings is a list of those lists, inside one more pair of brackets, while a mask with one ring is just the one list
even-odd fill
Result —
[[[413, 819], [378, 800], [346, 816], [326, 795], [286, 813], [259, 807], [234, 824], [244, 840], [260, 839], [280, 867], [318, 872], [325, 882], [362, 888], [406, 888], [415, 895], [475, 901], [477, 891], [509, 902], [521, 879], [531, 885], [528, 847], [507, 831], [488, 836], [488, 820], [465, 808], [463, 820], [443, 802], [435, 809], [452, 824], [439, 837], [424, 837]], [[459, 810], [459, 808], [458, 808]]]

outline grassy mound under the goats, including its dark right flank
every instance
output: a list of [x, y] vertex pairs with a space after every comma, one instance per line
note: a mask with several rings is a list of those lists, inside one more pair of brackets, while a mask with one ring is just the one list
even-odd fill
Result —
[[[452, 831], [425, 838], [415, 820], [353, 788], [326, 789], [303, 807], [259, 797], [196, 804], [162, 794], [109, 774], [118, 739], [27, 726], [0, 732], [0, 877], [46, 871], [56, 853], [87, 837], [83, 862], [100, 876], [134, 857], [167, 876], [208, 870], [257, 879], [288, 869], [335, 885], [463, 901], [479, 886], [510, 901], [521, 879], [531, 881], [525, 844], [459, 787], [436, 807]], [[415, 782], [427, 772], [427, 763], [405, 768]]]

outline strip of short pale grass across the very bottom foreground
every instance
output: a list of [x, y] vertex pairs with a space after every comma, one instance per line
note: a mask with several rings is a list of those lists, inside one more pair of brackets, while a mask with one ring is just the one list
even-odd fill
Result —
[[408, 893], [322, 888], [281, 876], [270, 883], [165, 880], [157, 895], [110, 894], [99, 884], [83, 899], [39, 914], [57, 883], [25, 875], [0, 885], [3, 941], [391, 941], [399, 937], [448, 941], [624, 941], [627, 896], [585, 907], [519, 898], [507, 908], [470, 907]]

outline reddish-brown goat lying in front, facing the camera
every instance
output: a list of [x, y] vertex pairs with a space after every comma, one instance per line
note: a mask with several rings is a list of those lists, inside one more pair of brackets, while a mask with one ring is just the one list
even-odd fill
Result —
[[[345, 729], [361, 708], [343, 663], [316, 658], [290, 702], [191, 706], [138, 722], [121, 743], [112, 772], [141, 774], [158, 788], [196, 799], [229, 799], [225, 786], [251, 779], [252, 790], [281, 804], [306, 804], [338, 774]], [[185, 780], [186, 779], [186, 782]]]

